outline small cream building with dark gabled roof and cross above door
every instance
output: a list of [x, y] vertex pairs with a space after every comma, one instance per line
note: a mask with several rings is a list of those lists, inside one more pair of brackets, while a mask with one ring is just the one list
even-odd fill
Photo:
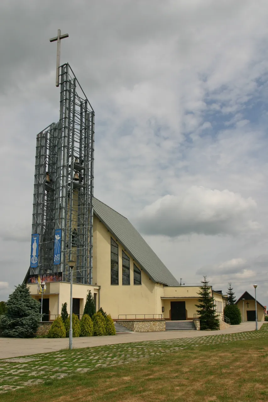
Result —
[[[239, 310], [241, 311], [241, 317], [242, 319], [244, 317], [244, 321], [256, 320], [255, 297], [245, 291], [245, 293], [243, 293], [243, 295], [241, 295], [239, 299], [237, 299], [235, 304], [239, 307]], [[264, 310], [264, 306], [262, 306], [262, 304], [260, 304], [260, 302], [257, 300], [258, 321], [264, 321]]]

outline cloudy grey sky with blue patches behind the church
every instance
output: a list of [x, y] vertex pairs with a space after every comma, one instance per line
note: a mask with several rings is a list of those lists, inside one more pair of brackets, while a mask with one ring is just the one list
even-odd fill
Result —
[[0, 299], [29, 267], [36, 134], [61, 62], [96, 113], [95, 197], [186, 285], [268, 304], [266, 0], [2, 0]]

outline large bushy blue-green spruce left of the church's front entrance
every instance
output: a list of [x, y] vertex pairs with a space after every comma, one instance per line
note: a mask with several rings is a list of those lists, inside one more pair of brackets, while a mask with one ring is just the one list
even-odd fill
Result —
[[26, 283], [16, 289], [6, 302], [6, 312], [0, 318], [2, 336], [31, 338], [41, 320], [40, 303], [31, 297]]

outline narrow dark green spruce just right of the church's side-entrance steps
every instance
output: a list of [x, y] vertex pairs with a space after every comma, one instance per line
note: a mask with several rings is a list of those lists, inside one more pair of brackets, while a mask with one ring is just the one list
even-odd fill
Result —
[[197, 313], [200, 316], [200, 329], [219, 329], [219, 320], [214, 310], [214, 299], [210, 295], [211, 287], [208, 286], [209, 281], [206, 280], [206, 276], [204, 276], [204, 281], [201, 281], [201, 283], [203, 283], [203, 286], [200, 286], [200, 292], [198, 293], [200, 304], [196, 304], [196, 307], [199, 309]]

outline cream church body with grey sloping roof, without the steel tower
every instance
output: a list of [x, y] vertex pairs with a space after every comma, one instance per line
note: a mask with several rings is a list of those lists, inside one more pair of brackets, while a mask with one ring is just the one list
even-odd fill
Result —
[[[195, 321], [200, 287], [180, 285], [126, 217], [96, 198], [93, 211], [93, 283], [78, 283], [74, 267], [73, 312], [83, 314], [90, 290], [96, 310], [102, 307], [113, 320]], [[40, 299], [37, 276], [30, 275], [27, 281], [33, 297]], [[70, 282], [58, 274], [40, 277], [46, 281], [44, 319], [52, 321], [64, 302], [70, 311]], [[223, 320], [226, 296], [211, 291]]]

